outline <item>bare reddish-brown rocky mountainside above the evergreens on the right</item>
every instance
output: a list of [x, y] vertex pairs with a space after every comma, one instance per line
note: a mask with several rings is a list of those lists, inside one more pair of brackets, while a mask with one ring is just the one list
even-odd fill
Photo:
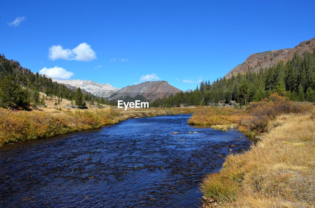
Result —
[[278, 63], [279, 60], [284, 60], [284, 63], [286, 63], [289, 59], [293, 57], [295, 52], [297, 52], [301, 56], [305, 51], [312, 52], [314, 47], [315, 38], [312, 38], [311, 40], [301, 42], [294, 48], [286, 48], [251, 54], [246, 59], [246, 61], [237, 65], [235, 68], [229, 71], [225, 75], [225, 78], [230, 78], [233, 74], [243, 74], [248, 69], [251, 69], [252, 72], [257, 72], [261, 67], [271, 67], [274, 64]]

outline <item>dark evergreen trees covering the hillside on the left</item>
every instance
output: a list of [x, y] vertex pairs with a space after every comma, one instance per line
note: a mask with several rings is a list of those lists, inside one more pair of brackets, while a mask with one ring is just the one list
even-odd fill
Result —
[[[21, 67], [19, 62], [0, 55], [0, 107], [27, 108], [31, 102], [34, 107], [42, 105], [43, 99], [39, 98], [39, 92], [67, 100], [74, 100], [76, 95], [75, 90], [38, 73], [33, 74], [30, 69]], [[85, 94], [83, 98], [88, 101], [98, 99], [91, 94]]]

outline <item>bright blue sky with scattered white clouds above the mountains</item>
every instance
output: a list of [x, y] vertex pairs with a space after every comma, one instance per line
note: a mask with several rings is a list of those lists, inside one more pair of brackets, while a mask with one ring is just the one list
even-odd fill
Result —
[[32, 72], [122, 88], [215, 80], [315, 37], [315, 1], [2, 1], [0, 52]]

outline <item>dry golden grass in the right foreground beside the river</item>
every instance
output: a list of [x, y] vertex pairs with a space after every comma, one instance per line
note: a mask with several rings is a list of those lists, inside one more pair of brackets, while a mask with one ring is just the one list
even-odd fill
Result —
[[219, 207], [315, 205], [315, 121], [306, 113], [271, 122], [281, 125], [250, 151], [227, 156], [219, 173], [204, 178], [206, 198], [219, 200]]

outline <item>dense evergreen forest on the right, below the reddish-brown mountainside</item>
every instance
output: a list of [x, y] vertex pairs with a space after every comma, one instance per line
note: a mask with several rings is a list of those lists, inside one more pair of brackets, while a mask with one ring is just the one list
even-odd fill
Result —
[[245, 74], [231, 78], [220, 78], [200, 83], [191, 92], [180, 92], [175, 96], [163, 97], [151, 103], [151, 107], [179, 107], [198, 105], [218, 105], [220, 102], [235, 101], [247, 105], [260, 101], [271, 93], [278, 92], [292, 101], [315, 101], [315, 48], [294, 54], [287, 63], [279, 61], [269, 68], [261, 68], [257, 73], [249, 69]]

